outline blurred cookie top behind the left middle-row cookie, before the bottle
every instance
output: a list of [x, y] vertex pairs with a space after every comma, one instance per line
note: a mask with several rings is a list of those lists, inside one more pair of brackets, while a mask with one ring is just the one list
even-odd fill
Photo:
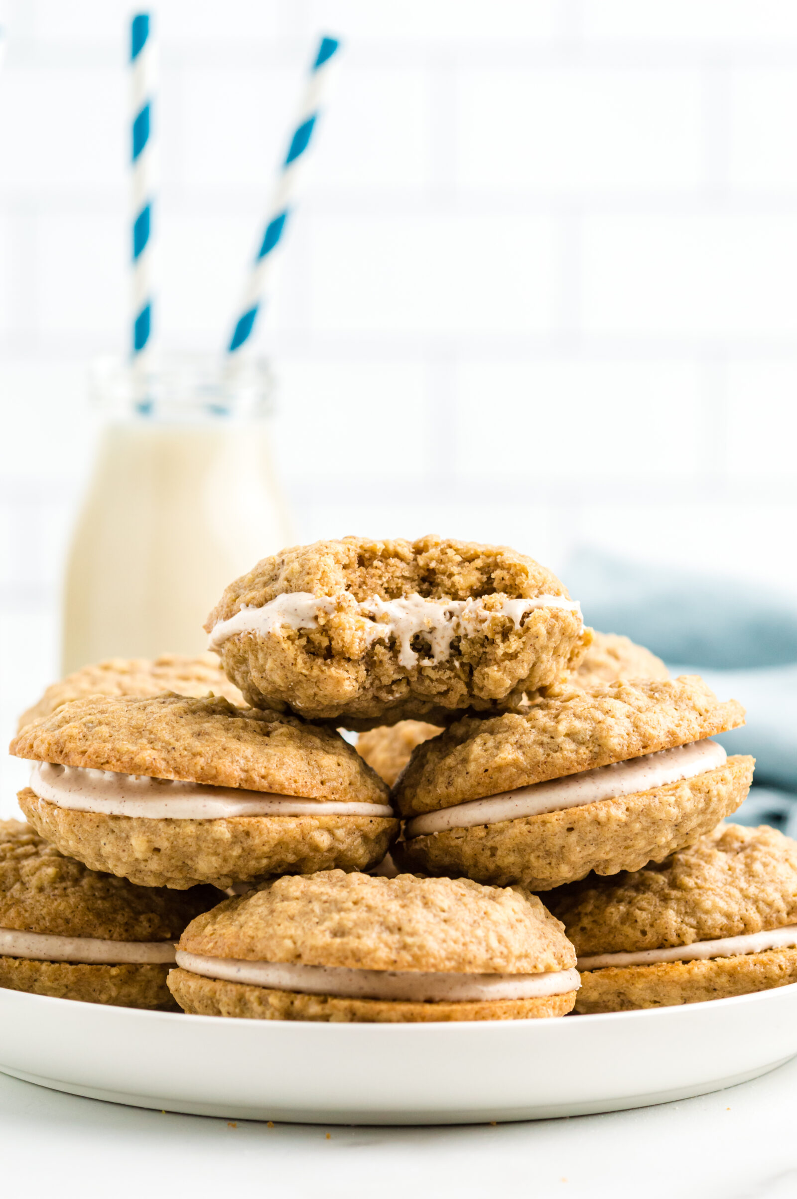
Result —
[[107, 658], [50, 683], [42, 698], [22, 713], [18, 727], [24, 729], [31, 721], [84, 695], [161, 695], [164, 691], [195, 697], [212, 693], [243, 706], [243, 695], [229, 681], [215, 653], [195, 658], [181, 653], [162, 653], [155, 659]]

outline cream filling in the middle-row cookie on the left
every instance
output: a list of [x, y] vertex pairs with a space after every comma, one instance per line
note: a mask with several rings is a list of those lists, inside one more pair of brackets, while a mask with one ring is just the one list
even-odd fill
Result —
[[393, 817], [386, 803], [337, 803], [235, 787], [180, 783], [111, 770], [34, 763], [30, 789], [40, 800], [76, 812], [149, 820], [221, 820], [227, 817]]

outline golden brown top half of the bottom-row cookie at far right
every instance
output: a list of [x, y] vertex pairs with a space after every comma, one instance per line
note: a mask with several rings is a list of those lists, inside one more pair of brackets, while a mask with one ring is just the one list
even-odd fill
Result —
[[797, 842], [720, 824], [660, 864], [547, 897], [579, 954], [662, 950], [797, 923]]

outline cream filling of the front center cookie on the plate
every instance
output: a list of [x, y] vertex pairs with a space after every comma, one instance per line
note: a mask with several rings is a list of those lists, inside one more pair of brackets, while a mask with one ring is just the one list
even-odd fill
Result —
[[177, 965], [204, 978], [242, 982], [304, 995], [345, 999], [461, 1004], [491, 999], [537, 999], [563, 995], [581, 986], [578, 970], [537, 975], [448, 974], [424, 970], [350, 970], [346, 966], [306, 966], [288, 962], [239, 962], [206, 958], [177, 950]]

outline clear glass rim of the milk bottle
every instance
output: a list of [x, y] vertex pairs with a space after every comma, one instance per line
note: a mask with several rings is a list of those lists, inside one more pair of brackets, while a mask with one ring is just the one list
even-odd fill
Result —
[[273, 412], [274, 376], [252, 355], [147, 354], [144, 361], [101, 357], [91, 363], [92, 406], [107, 415], [152, 420], [265, 417]]

